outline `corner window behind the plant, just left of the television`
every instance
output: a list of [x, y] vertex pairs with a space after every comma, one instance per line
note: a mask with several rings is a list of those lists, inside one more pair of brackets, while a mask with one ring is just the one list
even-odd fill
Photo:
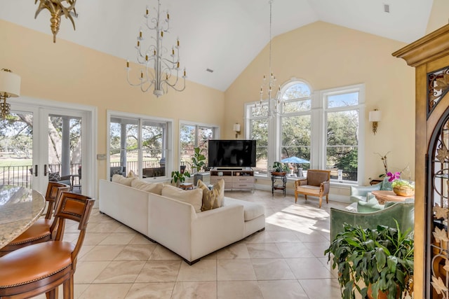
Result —
[[180, 167], [192, 173], [190, 162], [194, 155], [194, 148], [199, 147], [206, 156], [208, 165], [208, 140], [217, 137], [217, 127], [211, 125], [195, 125], [181, 123], [180, 125]]

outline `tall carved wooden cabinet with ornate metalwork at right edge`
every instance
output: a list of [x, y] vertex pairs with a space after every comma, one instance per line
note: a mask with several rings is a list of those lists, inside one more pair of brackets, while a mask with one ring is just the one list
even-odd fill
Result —
[[449, 298], [449, 25], [393, 55], [416, 74], [414, 298]]

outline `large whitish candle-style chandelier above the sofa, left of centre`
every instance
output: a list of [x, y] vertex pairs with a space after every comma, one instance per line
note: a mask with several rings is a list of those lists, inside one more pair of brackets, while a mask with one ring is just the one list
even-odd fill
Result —
[[[157, 1], [157, 9], [154, 8], [155, 17], [149, 16], [149, 9], [147, 6], [145, 12], [146, 27], [149, 32], [154, 31], [154, 43], [144, 48], [142, 45], [145, 41], [140, 28], [137, 46], [137, 61], [142, 65], [140, 69], [140, 78], [137, 83], [130, 81], [130, 67], [129, 60], [126, 61], [126, 72], [128, 83], [132, 86], [140, 86], [142, 92], [147, 92], [150, 88], [154, 88], [153, 94], [160, 97], [168, 92], [168, 88], [176, 91], [185, 90], [186, 71], [180, 69], [180, 40], [177, 39], [175, 46], [170, 50], [163, 46], [164, 34], [168, 33], [170, 29], [170, 15], [166, 11], [166, 18], [161, 20], [161, 2]], [[180, 76], [182, 72], [182, 76]], [[180, 80], [182, 78], [182, 80]], [[182, 83], [181, 83], [182, 81]]]

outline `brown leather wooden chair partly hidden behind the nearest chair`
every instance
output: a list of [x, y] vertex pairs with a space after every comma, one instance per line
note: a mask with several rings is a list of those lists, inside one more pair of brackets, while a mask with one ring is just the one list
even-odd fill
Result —
[[51, 216], [53, 214], [56, 200], [58, 199], [58, 196], [62, 193], [62, 191], [68, 191], [69, 188], [70, 186], [67, 186], [64, 183], [49, 181], [47, 192], [45, 195], [45, 200], [48, 202], [45, 218], [38, 219], [29, 228], [27, 228], [25, 232], [22, 232], [21, 235], [1, 248], [0, 256], [4, 256], [6, 253], [15, 251], [25, 246], [50, 241], [53, 232], [53, 230], [51, 230]]

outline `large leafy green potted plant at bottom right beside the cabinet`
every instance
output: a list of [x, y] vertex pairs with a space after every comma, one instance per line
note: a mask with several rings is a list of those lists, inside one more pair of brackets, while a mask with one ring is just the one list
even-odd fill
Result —
[[[413, 293], [413, 234], [377, 225], [361, 228], [345, 223], [329, 248], [328, 261], [338, 268], [342, 298], [403, 298]], [[382, 295], [384, 297], [382, 297]]]

